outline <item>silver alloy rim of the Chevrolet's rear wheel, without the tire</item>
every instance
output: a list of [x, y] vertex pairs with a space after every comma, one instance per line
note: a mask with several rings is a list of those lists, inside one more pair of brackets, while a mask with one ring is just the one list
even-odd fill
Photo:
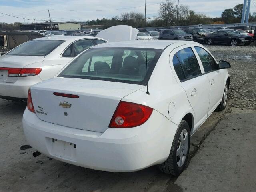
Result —
[[183, 129], [180, 133], [180, 138], [178, 141], [177, 151], [176, 151], [176, 157], [177, 157], [177, 165], [178, 167], [182, 167], [186, 156], [188, 153], [188, 131], [186, 129]]

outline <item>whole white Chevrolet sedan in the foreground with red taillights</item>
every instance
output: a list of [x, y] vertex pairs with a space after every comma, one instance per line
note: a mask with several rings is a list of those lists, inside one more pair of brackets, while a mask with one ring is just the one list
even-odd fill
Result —
[[46, 156], [86, 168], [159, 165], [179, 175], [190, 136], [226, 107], [227, 68], [191, 41], [149, 41], [147, 50], [143, 41], [94, 46], [55, 78], [31, 86], [26, 139]]

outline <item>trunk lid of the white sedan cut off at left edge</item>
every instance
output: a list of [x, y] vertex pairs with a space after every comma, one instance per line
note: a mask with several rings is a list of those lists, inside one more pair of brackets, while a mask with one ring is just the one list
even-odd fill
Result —
[[0, 82], [15, 83], [18, 80], [18, 76], [8, 77], [8, 68], [24, 68], [25, 66], [42, 62], [44, 56], [16, 56], [16, 55], [4, 55], [0, 57]]

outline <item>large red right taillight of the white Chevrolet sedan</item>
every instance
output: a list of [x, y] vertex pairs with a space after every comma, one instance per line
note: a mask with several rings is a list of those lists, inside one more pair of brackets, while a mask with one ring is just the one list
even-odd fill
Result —
[[152, 111], [153, 109], [148, 106], [120, 101], [109, 127], [130, 128], [140, 126], [148, 120]]

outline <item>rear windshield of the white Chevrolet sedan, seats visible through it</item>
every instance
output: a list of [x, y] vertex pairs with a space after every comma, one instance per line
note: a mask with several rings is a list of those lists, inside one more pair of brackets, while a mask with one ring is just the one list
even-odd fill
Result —
[[[163, 50], [147, 49], [148, 80]], [[91, 48], [62, 71], [59, 77], [146, 85], [145, 48]]]

